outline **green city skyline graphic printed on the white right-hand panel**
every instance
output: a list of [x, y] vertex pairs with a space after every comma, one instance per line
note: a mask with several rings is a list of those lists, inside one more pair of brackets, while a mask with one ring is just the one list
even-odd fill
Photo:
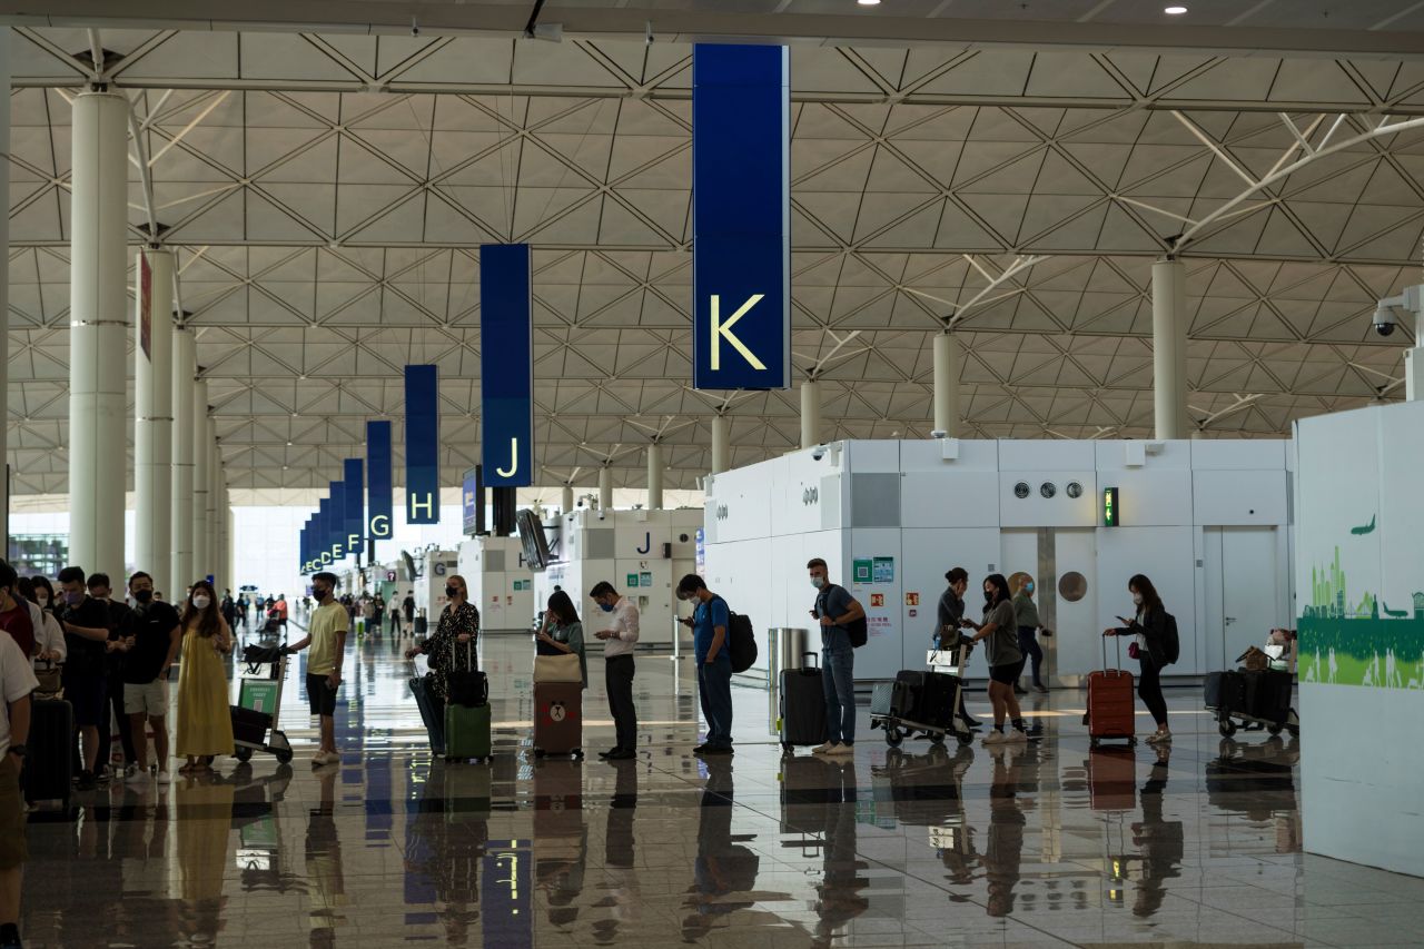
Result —
[[[1374, 529], [1371, 517], [1351, 540]], [[1424, 688], [1424, 593], [1413, 600], [1413, 608], [1391, 610], [1377, 593], [1351, 594], [1337, 544], [1330, 563], [1310, 569], [1310, 603], [1297, 628], [1300, 681]]]

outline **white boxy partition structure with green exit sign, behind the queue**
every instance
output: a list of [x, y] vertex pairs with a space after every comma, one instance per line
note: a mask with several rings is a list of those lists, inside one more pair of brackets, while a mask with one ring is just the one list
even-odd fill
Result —
[[[792, 452], [712, 477], [708, 584], [759, 630], [807, 626], [806, 560], [823, 557], [866, 606], [856, 675], [879, 680], [923, 663], [950, 567], [968, 570], [971, 610], [985, 574], [1027, 573], [1057, 633], [1049, 671], [1075, 684], [1102, 665], [1102, 630], [1132, 608], [1128, 579], [1145, 573], [1182, 630], [1171, 673], [1196, 675], [1290, 616], [1286, 465], [1284, 442], [944, 439]], [[1118, 489], [1121, 526], [1104, 526], [1106, 487]]]

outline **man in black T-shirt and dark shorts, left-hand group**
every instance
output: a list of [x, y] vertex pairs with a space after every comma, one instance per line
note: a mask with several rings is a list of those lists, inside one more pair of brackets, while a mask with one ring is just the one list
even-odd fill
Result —
[[60, 570], [60, 588], [64, 591], [60, 628], [64, 630], [64, 647], [68, 650], [64, 663], [64, 700], [74, 707], [74, 727], [83, 745], [78, 789], [93, 791], [98, 784], [94, 778], [100, 752], [98, 727], [108, 717], [104, 674], [110, 650], [108, 610], [88, 596], [83, 567]]

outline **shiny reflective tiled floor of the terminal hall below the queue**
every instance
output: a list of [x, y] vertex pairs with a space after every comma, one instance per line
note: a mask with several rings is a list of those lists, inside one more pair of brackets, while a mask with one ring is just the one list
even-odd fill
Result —
[[[446, 765], [400, 644], [352, 648], [340, 765], [310, 765], [293, 664], [290, 767], [36, 814], [27, 945], [1424, 945], [1424, 881], [1303, 855], [1296, 742], [1222, 742], [1192, 690], [1171, 752], [1089, 752], [1062, 691], [1028, 748], [862, 727], [830, 764], [783, 758], [768, 693], [736, 688], [738, 754], [702, 762], [688, 663], [646, 655], [637, 761], [533, 761], [528, 641], [491, 637], [496, 759]], [[607, 747], [600, 683], [587, 705]]]

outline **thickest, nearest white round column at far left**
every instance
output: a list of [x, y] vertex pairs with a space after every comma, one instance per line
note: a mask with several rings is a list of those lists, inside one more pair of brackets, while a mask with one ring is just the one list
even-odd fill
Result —
[[122, 577], [128, 100], [74, 98], [70, 198], [70, 563]]

